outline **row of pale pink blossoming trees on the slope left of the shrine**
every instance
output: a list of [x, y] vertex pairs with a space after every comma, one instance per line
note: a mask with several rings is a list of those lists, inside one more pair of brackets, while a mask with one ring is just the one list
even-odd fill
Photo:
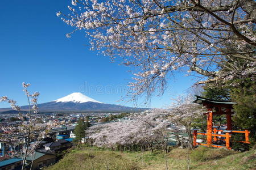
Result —
[[133, 113], [127, 121], [92, 126], [88, 130], [89, 138], [93, 139], [93, 145], [100, 147], [142, 151], [163, 149], [168, 152], [170, 136], [167, 127], [168, 133], [175, 135], [178, 143], [192, 143], [191, 122], [203, 110], [200, 105], [192, 103], [191, 95], [179, 97], [168, 109]]

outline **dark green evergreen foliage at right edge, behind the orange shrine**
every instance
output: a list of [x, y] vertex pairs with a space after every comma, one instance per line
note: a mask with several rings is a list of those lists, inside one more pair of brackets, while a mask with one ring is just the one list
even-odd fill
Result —
[[[236, 150], [248, 150], [249, 147], [255, 145], [256, 137], [256, 82], [252, 81], [250, 78], [247, 79], [237, 79], [236, 83], [240, 86], [232, 88], [230, 95], [232, 99], [237, 102], [234, 105], [234, 111], [236, 114], [233, 116], [233, 128], [238, 130], [249, 130], [250, 135], [250, 146], [246, 143], [234, 143], [233, 148]], [[242, 136], [242, 137], [240, 137]], [[244, 141], [244, 134], [234, 134], [235, 141]], [[240, 139], [243, 140], [240, 140]]]

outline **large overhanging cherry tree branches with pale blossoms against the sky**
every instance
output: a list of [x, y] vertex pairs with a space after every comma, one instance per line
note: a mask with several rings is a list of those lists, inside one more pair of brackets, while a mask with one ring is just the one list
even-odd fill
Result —
[[[84, 31], [92, 50], [132, 66], [133, 99], [163, 93], [177, 70], [226, 82], [255, 73], [253, 0], [72, 0], [57, 16]], [[242, 61], [242, 62], [241, 62]], [[202, 78], [201, 76], [201, 78]]]

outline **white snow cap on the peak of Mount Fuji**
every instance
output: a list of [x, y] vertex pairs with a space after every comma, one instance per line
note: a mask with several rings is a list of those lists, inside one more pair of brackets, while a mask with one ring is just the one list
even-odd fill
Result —
[[86, 103], [86, 102], [95, 102], [101, 103], [100, 101], [94, 100], [88, 96], [81, 94], [80, 92], [72, 93], [68, 96], [62, 97], [60, 99], [54, 100], [55, 102], [74, 102], [74, 103]]

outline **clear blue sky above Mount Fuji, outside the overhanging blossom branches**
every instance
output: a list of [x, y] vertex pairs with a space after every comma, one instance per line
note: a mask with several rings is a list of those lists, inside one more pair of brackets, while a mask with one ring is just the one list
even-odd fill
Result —
[[[1, 1], [0, 96], [25, 105], [21, 84], [29, 82], [30, 90], [41, 94], [39, 103], [82, 92], [104, 103], [133, 106], [118, 102], [131, 80], [129, 67], [90, 51], [82, 32], [71, 39], [65, 37], [73, 28], [63, 23], [56, 12], [68, 12], [68, 5], [71, 1]], [[163, 96], [152, 97], [150, 107], [170, 104], [171, 97], [193, 84], [191, 79], [183, 73], [176, 74]], [[0, 103], [0, 108], [5, 107], [9, 105]]]

